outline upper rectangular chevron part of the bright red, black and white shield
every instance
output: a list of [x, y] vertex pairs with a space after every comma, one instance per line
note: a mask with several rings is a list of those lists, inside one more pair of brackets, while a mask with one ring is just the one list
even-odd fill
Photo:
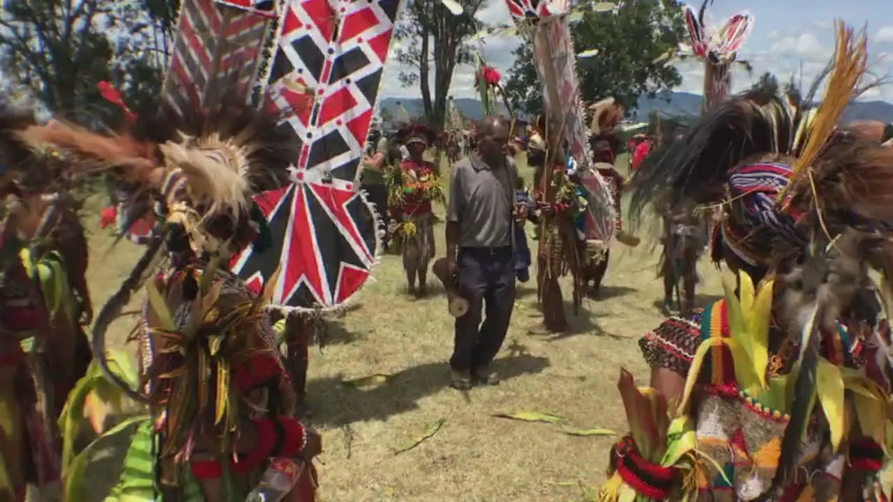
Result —
[[[289, 1], [282, 17], [269, 89], [280, 110], [313, 106], [288, 120], [300, 143], [298, 169], [353, 180], [369, 132], [394, 30], [398, 0]], [[278, 91], [278, 92], [277, 92]]]

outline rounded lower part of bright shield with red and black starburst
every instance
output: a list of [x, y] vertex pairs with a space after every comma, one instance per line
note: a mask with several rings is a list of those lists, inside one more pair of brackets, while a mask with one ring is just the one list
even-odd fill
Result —
[[355, 184], [313, 174], [296, 170], [296, 183], [255, 197], [273, 244], [263, 253], [247, 247], [230, 262], [255, 291], [281, 266], [272, 302], [286, 311], [344, 305], [369, 279], [380, 248], [378, 218]]

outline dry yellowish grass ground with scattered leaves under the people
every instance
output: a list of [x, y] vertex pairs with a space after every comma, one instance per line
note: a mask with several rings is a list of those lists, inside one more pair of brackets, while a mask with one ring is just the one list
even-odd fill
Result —
[[[91, 217], [96, 229], [97, 216]], [[437, 234], [442, 255], [442, 227]], [[572, 436], [557, 425], [494, 415], [545, 412], [566, 417], [577, 429], [625, 431], [615, 382], [621, 368], [645, 381], [637, 339], [661, 321], [658, 251], [654, 236], [642, 237], [637, 248], [613, 245], [604, 297], [571, 316], [570, 333], [528, 335], [538, 321], [536, 285], [520, 284], [497, 359], [503, 382], [467, 394], [448, 387], [453, 319], [443, 290], [433, 284], [429, 297], [414, 299], [399, 257], [384, 256], [357, 308], [332, 320], [327, 345], [311, 354], [308, 392], [311, 422], [323, 434], [323, 502], [588, 499], [587, 491], [591, 496], [604, 480], [615, 437]], [[140, 249], [123, 243], [109, 253], [111, 238], [103, 230], [92, 230], [90, 238], [89, 280], [98, 312]], [[711, 264], [705, 261], [699, 272], [703, 303], [722, 288]], [[570, 290], [567, 281], [564, 290]], [[121, 343], [129, 326], [117, 324], [113, 339]], [[371, 389], [347, 383], [376, 373], [387, 375], [387, 382]], [[434, 430], [415, 448], [396, 453]], [[113, 453], [118, 455], [95, 464], [97, 489], [117, 477], [114, 458], [120, 452]]]

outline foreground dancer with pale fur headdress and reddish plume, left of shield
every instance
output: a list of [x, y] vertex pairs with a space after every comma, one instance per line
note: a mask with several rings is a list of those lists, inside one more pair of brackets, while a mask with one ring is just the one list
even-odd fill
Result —
[[129, 456], [154, 452], [157, 471], [125, 469], [118, 489], [142, 477], [149, 487], [157, 481], [165, 499], [220, 500], [228, 486], [244, 498], [271, 457], [301, 458], [298, 489], [313, 500], [319, 437], [292, 418], [295, 389], [265, 311], [275, 276], [250, 290], [228, 270], [243, 248], [271, 246], [252, 195], [288, 180], [294, 152], [276, 127], [280, 116], [246, 105], [238, 86], [227, 84], [232, 96], [213, 94], [219, 102], [186, 111], [154, 105], [110, 138], [66, 124], [32, 127], [23, 137], [75, 156], [88, 172], [110, 166], [156, 202], [146, 254], [94, 328], [104, 362], [105, 330], [146, 282], [138, 337], [145, 387], [129, 389], [106, 371], [149, 406], [154, 425], [140, 428]]

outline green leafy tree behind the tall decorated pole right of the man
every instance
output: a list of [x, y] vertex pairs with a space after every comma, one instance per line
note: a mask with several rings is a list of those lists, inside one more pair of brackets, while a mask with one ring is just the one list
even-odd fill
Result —
[[[638, 96], [655, 96], [681, 83], [679, 71], [658, 61], [686, 34], [675, 0], [624, 2], [616, 12], [587, 12], [572, 24], [571, 32], [577, 54], [598, 50], [593, 57], [577, 60], [580, 93], [586, 101], [613, 96], [633, 109]], [[523, 43], [513, 54], [505, 92], [516, 108], [538, 113], [542, 87], [533, 46]]]

